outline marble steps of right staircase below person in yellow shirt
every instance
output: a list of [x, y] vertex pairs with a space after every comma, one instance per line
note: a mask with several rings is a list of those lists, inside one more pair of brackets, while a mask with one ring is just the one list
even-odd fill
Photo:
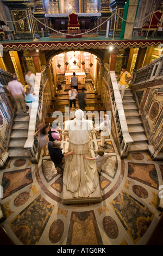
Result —
[[147, 137], [142, 126], [142, 120], [135, 104], [135, 100], [133, 99], [133, 94], [129, 88], [125, 90], [122, 103], [129, 134], [134, 141], [130, 146], [129, 152], [148, 150]]

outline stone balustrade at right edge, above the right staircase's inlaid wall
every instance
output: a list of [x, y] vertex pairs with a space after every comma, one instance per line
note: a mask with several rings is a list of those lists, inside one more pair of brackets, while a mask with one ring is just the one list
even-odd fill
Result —
[[155, 59], [153, 62], [143, 66], [138, 70], [133, 70], [133, 80], [130, 87], [141, 84], [142, 82], [150, 82], [160, 80], [163, 76], [163, 56]]

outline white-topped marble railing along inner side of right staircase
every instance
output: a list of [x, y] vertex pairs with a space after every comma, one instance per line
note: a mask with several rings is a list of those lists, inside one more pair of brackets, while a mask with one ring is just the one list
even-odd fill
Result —
[[122, 158], [127, 157], [128, 150], [130, 145], [134, 142], [131, 136], [129, 135], [126, 116], [124, 114], [124, 109], [122, 105], [122, 98], [120, 90], [118, 88], [117, 80], [115, 77], [115, 71], [108, 71], [106, 74], [107, 68], [104, 66], [104, 79], [108, 83], [109, 93], [112, 103], [112, 116], [114, 117], [114, 123], [116, 124], [116, 132], [114, 136], [118, 138], [119, 144], [117, 145], [118, 151]]

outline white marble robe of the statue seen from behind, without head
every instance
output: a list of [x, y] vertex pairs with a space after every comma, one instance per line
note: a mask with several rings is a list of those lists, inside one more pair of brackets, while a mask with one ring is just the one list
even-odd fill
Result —
[[[73, 127], [73, 129], [71, 129]], [[84, 127], [84, 130], [82, 129]], [[89, 197], [96, 190], [99, 183], [96, 162], [83, 158], [95, 157], [90, 135], [93, 132], [91, 120], [75, 118], [65, 122], [65, 135], [68, 135], [68, 152], [74, 155], [65, 157], [63, 182], [66, 189], [71, 191], [73, 197]]]

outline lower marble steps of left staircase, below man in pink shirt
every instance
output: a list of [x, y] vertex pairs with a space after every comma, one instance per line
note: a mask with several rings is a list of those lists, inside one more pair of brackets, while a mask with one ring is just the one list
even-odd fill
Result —
[[24, 149], [28, 136], [29, 114], [16, 114], [9, 143], [9, 157], [28, 157], [29, 153]]

